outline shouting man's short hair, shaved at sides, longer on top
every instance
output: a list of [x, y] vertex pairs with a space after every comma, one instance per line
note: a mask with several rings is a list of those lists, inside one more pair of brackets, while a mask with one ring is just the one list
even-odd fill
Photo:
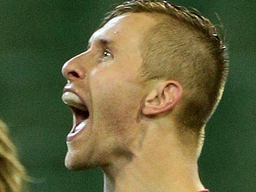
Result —
[[184, 94], [175, 111], [177, 122], [203, 133], [227, 79], [224, 38], [209, 19], [197, 11], [166, 1], [125, 2], [108, 13], [101, 26], [125, 13], [148, 13], [159, 21], [145, 34], [141, 46], [141, 76], [145, 81], [178, 81]]

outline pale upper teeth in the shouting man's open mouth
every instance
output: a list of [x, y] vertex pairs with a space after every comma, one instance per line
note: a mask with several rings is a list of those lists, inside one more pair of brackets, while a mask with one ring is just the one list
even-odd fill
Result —
[[63, 93], [62, 101], [67, 105], [77, 107], [81, 110], [84, 110], [84, 111], [88, 110], [88, 108], [84, 105], [84, 103], [75, 93], [72, 93], [72, 92]]

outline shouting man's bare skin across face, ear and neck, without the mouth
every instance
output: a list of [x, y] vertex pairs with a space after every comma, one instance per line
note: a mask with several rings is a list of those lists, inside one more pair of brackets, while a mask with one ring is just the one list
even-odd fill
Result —
[[140, 45], [156, 20], [145, 13], [115, 17], [97, 30], [89, 49], [67, 61], [67, 87], [89, 109], [84, 129], [67, 141], [65, 166], [102, 167], [105, 191], [198, 191], [197, 158], [187, 155], [171, 118], [149, 118], [175, 107], [175, 81], [142, 84]]

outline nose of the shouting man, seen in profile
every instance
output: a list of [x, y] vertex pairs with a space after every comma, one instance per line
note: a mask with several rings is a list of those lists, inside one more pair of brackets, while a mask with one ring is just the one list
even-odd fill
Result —
[[85, 71], [81, 66], [81, 57], [84, 53], [69, 59], [62, 66], [62, 75], [69, 81], [82, 80], [85, 78]]

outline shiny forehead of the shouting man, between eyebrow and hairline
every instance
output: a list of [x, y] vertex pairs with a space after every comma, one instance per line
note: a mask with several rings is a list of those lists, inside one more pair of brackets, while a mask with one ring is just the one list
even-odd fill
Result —
[[127, 13], [109, 20], [91, 36], [89, 43], [106, 40], [128, 46], [139, 45], [156, 21], [145, 13]]

